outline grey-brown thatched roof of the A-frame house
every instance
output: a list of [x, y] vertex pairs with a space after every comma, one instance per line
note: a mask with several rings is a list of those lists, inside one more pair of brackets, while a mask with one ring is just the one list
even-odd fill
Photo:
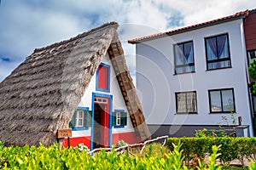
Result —
[[[131, 103], [133, 108], [140, 110], [132, 111], [131, 104], [127, 105], [130, 116], [139, 115], [144, 120], [117, 28], [118, 24], [111, 22], [67, 41], [35, 49], [0, 83], [0, 140], [6, 145], [53, 144], [57, 129], [67, 128], [85, 88], [107, 52], [112, 52], [111, 58], [119, 60], [121, 70], [115, 67], [116, 73], [128, 81], [121, 80], [119, 85], [131, 86], [121, 90], [126, 105]], [[133, 122], [133, 125], [142, 126], [143, 131], [146, 129], [148, 136], [141, 135], [142, 139], [149, 137], [144, 122]]]

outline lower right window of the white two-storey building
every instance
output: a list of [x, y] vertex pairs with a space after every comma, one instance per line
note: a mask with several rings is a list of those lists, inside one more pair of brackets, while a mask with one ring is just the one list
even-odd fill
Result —
[[233, 88], [209, 90], [208, 93], [211, 113], [236, 111]]

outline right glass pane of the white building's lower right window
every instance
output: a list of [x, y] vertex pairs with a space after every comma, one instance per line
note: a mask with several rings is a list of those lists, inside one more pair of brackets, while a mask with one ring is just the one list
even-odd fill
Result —
[[232, 90], [222, 90], [223, 111], [234, 111], [234, 98]]

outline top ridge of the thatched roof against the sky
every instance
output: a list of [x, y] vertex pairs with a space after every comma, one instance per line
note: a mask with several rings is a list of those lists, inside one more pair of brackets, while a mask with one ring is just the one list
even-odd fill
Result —
[[67, 43], [67, 42], [73, 42], [73, 41], [75, 41], [75, 40], [77, 40], [77, 39], [79, 39], [79, 38], [81, 38], [81, 37], [86, 37], [86, 36], [88, 36], [88, 35], [89, 35], [91, 32], [93, 32], [93, 31], [100, 31], [100, 30], [102, 30], [103, 28], [108, 27], [108, 26], [113, 26], [113, 27], [115, 27], [115, 28], [117, 29], [118, 26], [119, 26], [119, 24], [118, 24], [117, 22], [114, 22], [114, 21], [105, 23], [105, 24], [103, 24], [102, 26], [98, 26], [98, 27], [93, 28], [93, 29], [91, 29], [91, 30], [89, 30], [89, 31], [85, 31], [85, 32], [83, 32], [83, 33], [81, 33], [81, 34], [79, 34], [79, 35], [77, 35], [77, 36], [75, 36], [75, 37], [71, 37], [71, 38], [69, 38], [69, 39], [67, 39], [67, 40], [63, 40], [63, 41], [61, 41], [61, 42], [55, 42], [55, 43], [50, 44], [50, 45], [48, 45], [48, 46], [45, 46], [45, 47], [43, 47], [43, 48], [35, 48], [35, 50], [34, 50], [33, 53], [38, 53], [38, 52], [41, 52], [41, 51], [43, 51], [43, 50], [45, 50], [45, 49], [49, 49], [49, 48], [55, 48], [55, 47], [57, 47], [57, 46], [60, 46], [60, 45], [65, 44], [65, 43]]

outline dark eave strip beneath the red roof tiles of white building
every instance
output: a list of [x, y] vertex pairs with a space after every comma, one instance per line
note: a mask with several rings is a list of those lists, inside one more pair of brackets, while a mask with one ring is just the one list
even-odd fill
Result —
[[167, 31], [167, 32], [163, 32], [159, 36], [148, 37], [148, 38], [144, 38], [144, 39], [141, 39], [141, 40], [138, 40], [138, 41], [132, 41], [131, 40], [131, 41], [128, 41], [128, 42], [131, 43], [131, 44], [148, 42], [148, 41], [159, 39], [159, 38], [162, 38], [162, 37], [169, 37], [169, 36], [181, 34], [183, 32], [187, 32], [187, 31], [195, 31], [197, 29], [205, 28], [205, 27], [208, 27], [208, 26], [214, 26], [214, 25], [218, 25], [218, 24], [223, 24], [225, 22], [230, 22], [230, 21], [233, 21], [233, 20], [244, 19], [245, 17], [246, 17], [246, 15], [238, 15], [236, 17], [232, 17], [232, 18], [228, 18], [228, 19], [224, 19], [224, 20], [218, 20], [218, 21], [215, 21], [215, 22], [210, 22], [210, 23], [207, 23], [207, 24], [202, 24], [200, 26], [192, 26], [192, 27], [189, 27], [187, 29], [182, 29], [181, 28], [181, 30], [177, 30], [177, 31], [169, 31], [169, 32]]

